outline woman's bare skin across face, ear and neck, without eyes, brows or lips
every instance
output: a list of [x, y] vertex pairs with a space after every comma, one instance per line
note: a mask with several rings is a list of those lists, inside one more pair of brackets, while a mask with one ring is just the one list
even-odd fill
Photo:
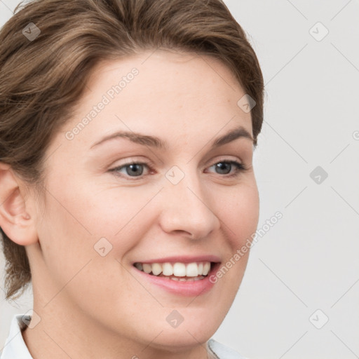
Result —
[[[67, 140], [65, 133], [133, 67], [135, 79]], [[43, 207], [1, 164], [0, 225], [26, 246], [41, 318], [22, 333], [29, 352], [36, 359], [208, 358], [205, 342], [229, 311], [249, 252], [198, 297], [147, 283], [132, 263], [211, 254], [224, 264], [255, 232], [252, 141], [241, 137], [210, 149], [238, 126], [252, 134], [250, 113], [237, 105], [245, 92], [222, 62], [164, 50], [101, 62], [87, 86], [46, 151]], [[105, 135], [129, 129], [160, 137], [168, 149], [119, 137], [90, 149]], [[152, 163], [152, 170], [144, 165], [140, 177], [128, 175], [128, 167], [117, 176], [109, 172], [131, 161]], [[216, 170], [223, 161], [247, 170], [229, 177], [236, 167]], [[174, 165], [184, 173], [175, 185], [165, 177]], [[112, 245], [104, 257], [93, 248], [100, 238]], [[173, 309], [184, 318], [176, 328], [165, 320]]]

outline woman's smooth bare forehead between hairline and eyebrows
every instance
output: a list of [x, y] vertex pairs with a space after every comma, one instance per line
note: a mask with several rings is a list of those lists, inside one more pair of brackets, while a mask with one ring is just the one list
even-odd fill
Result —
[[[190, 140], [191, 133], [210, 138], [239, 124], [252, 133], [250, 113], [237, 104], [243, 95], [233, 73], [208, 55], [156, 50], [106, 60], [90, 74], [62, 137], [83, 118], [88, 121], [76, 134], [79, 144], [94, 143], [114, 130]], [[101, 102], [105, 105], [95, 113]]]

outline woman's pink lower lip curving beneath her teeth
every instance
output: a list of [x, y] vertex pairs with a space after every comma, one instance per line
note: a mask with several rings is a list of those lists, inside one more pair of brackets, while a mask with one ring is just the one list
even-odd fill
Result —
[[208, 273], [208, 276], [201, 280], [190, 280], [182, 282], [165, 277], [153, 276], [151, 274], [140, 271], [135, 266], [133, 269], [149, 283], [153, 283], [154, 285], [157, 285], [158, 287], [161, 287], [168, 292], [182, 295], [184, 297], [198, 297], [198, 295], [205, 294], [211, 290], [213, 285], [215, 285], [215, 283], [210, 282], [210, 276], [217, 271], [219, 264], [220, 263], [216, 263], [213, 265], [210, 272]]

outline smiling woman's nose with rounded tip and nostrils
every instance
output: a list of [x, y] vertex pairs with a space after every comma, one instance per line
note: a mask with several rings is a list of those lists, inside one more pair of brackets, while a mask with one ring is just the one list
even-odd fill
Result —
[[187, 173], [177, 184], [168, 181], [162, 191], [161, 228], [191, 239], [206, 238], [220, 226], [211, 203], [215, 196], [205, 190], [197, 175]]

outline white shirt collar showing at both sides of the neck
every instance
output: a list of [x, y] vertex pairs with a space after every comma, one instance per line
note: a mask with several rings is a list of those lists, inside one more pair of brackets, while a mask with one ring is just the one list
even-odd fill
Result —
[[[25, 321], [22, 320], [24, 314], [15, 314], [11, 321], [10, 332], [6, 339], [3, 353], [0, 359], [34, 359], [29, 353], [21, 331], [25, 329], [26, 323], [29, 323], [31, 316], [25, 316]], [[214, 339], [208, 341], [208, 351], [215, 359], [245, 359], [236, 351], [227, 348], [223, 344], [218, 343]]]

